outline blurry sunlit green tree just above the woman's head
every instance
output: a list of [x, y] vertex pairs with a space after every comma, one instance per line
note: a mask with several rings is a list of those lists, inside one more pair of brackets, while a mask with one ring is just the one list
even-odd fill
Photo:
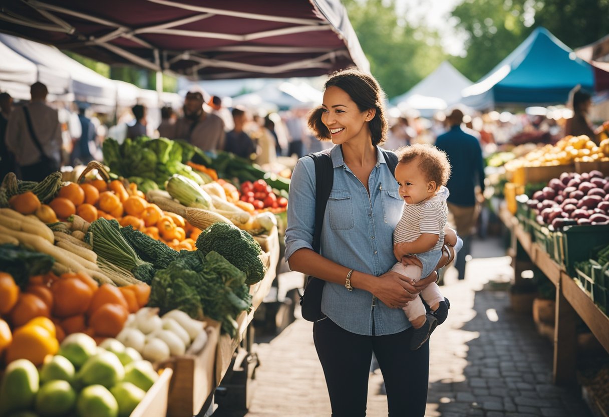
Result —
[[395, 0], [343, 0], [370, 72], [388, 97], [402, 94], [446, 58], [438, 35], [411, 27], [395, 10]]

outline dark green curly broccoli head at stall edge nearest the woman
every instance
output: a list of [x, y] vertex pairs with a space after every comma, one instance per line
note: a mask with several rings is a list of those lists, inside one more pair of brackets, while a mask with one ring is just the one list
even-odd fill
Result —
[[259, 255], [260, 245], [244, 230], [231, 224], [214, 223], [197, 238], [197, 249], [207, 255], [216, 251], [245, 273], [245, 283], [252, 285], [264, 278], [266, 268]]

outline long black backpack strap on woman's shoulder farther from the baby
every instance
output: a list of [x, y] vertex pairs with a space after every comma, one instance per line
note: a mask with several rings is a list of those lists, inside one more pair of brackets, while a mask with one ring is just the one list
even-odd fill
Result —
[[331, 149], [315, 154], [308, 154], [315, 163], [315, 226], [313, 232], [313, 250], [320, 251], [323, 215], [326, 211], [330, 191], [334, 184], [334, 167], [330, 157]]

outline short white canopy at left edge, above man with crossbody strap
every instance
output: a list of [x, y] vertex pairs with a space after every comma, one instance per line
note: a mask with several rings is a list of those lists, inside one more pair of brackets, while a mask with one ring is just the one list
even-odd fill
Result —
[[38, 69], [33, 62], [0, 43], [0, 91], [16, 99], [29, 99], [30, 85], [37, 77]]

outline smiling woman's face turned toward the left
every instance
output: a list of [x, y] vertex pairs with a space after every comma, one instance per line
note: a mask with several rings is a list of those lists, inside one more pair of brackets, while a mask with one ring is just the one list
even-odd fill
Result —
[[328, 127], [334, 144], [370, 140], [368, 121], [374, 115], [374, 109], [360, 112], [349, 94], [339, 87], [328, 87], [323, 93], [322, 123]]

